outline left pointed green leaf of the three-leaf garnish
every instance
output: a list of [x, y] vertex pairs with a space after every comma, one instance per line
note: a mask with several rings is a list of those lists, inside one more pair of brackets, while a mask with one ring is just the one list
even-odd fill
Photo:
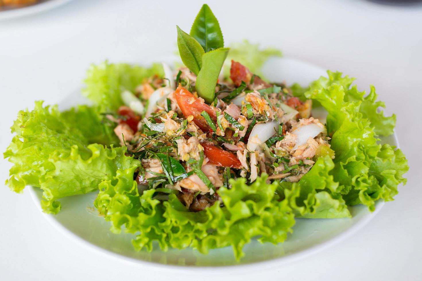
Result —
[[195, 75], [198, 75], [199, 70], [202, 67], [204, 49], [194, 37], [181, 30], [177, 25], [176, 28], [177, 46], [179, 47], [180, 58], [184, 65], [195, 73]]

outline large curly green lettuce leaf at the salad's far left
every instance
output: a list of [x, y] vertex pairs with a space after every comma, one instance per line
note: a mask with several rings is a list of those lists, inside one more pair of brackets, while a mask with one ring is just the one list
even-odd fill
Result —
[[117, 169], [137, 165], [138, 161], [124, 155], [126, 147], [88, 145], [95, 132], [96, 138], [104, 137], [103, 142], [112, 139], [103, 134], [106, 125], [98, 118], [75, 123], [94, 116], [91, 107], [61, 113], [57, 106], [43, 107], [43, 102], [35, 102], [34, 110], [20, 111], [11, 127], [16, 135], [3, 154], [14, 164], [6, 180], [10, 189], [19, 193], [26, 185], [40, 187], [43, 210], [57, 213], [57, 199], [97, 190]]

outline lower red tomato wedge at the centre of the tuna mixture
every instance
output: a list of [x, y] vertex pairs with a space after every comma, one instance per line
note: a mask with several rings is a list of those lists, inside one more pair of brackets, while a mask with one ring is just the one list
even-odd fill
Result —
[[230, 167], [234, 169], [242, 169], [242, 164], [236, 155], [222, 150], [209, 142], [203, 142], [204, 155], [208, 158], [208, 163], [219, 167]]

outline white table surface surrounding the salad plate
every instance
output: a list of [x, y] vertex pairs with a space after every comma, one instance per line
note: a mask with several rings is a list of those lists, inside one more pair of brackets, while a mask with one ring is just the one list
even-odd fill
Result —
[[[236, 276], [170, 272], [128, 264], [75, 244], [49, 224], [27, 191], [0, 189], [0, 280], [421, 280], [422, 7], [363, 0], [214, 1], [227, 42], [248, 38], [373, 84], [398, 115], [411, 170], [396, 200], [352, 238], [284, 267]], [[176, 48], [197, 1], [75, 0], [38, 15], [0, 21], [0, 148], [18, 110], [60, 101], [92, 62], [131, 62]], [[10, 165], [1, 161], [0, 179]], [[271, 278], [271, 279], [269, 279]]]

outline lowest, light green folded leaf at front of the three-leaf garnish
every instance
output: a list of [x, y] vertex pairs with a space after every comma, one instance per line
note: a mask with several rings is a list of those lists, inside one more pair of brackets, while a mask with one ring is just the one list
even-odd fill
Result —
[[202, 56], [202, 68], [196, 78], [196, 91], [208, 103], [214, 100], [215, 86], [228, 52], [228, 48], [221, 48]]

